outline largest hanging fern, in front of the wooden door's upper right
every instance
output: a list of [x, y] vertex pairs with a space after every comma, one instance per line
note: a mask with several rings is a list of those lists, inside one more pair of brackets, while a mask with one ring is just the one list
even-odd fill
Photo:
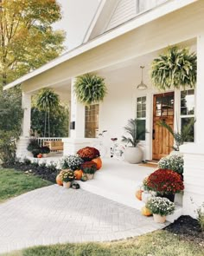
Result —
[[170, 47], [151, 65], [152, 84], [161, 90], [194, 88], [197, 76], [197, 56], [188, 48]]

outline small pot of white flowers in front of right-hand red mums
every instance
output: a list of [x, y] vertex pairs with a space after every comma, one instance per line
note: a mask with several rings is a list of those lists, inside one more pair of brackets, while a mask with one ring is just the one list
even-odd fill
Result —
[[175, 204], [167, 198], [152, 197], [147, 201], [146, 207], [150, 209], [154, 220], [158, 223], [166, 221], [166, 216], [174, 213]]

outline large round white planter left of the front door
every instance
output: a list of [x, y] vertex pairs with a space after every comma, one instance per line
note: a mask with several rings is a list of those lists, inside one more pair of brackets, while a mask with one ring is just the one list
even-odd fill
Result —
[[143, 151], [141, 148], [126, 147], [124, 149], [124, 160], [130, 163], [139, 163], [143, 160]]

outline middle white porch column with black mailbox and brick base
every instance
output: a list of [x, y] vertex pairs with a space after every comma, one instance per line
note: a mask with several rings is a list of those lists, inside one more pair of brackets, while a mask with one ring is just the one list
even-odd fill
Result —
[[85, 107], [77, 102], [74, 95], [74, 82], [71, 84], [71, 113], [70, 113], [70, 138], [62, 139], [64, 143], [63, 154], [75, 154], [80, 148], [90, 145], [90, 140], [85, 139]]

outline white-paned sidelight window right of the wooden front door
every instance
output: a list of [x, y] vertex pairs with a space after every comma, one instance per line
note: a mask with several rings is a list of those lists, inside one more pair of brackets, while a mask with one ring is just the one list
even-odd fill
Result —
[[[181, 130], [194, 119], [194, 89], [181, 92]], [[194, 142], [194, 127], [188, 135], [186, 142]]]

